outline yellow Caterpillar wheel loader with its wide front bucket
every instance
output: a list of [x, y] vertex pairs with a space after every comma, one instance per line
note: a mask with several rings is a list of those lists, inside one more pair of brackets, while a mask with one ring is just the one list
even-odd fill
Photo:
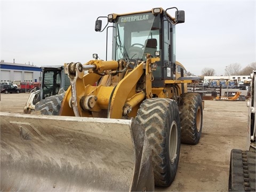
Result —
[[95, 31], [113, 30], [112, 60], [93, 54], [65, 63], [65, 94], [39, 101], [31, 114], [1, 113], [1, 190], [170, 186], [181, 142], [201, 138], [204, 108], [201, 95], [187, 92], [198, 79], [175, 60], [182, 22], [176, 7], [99, 17]]

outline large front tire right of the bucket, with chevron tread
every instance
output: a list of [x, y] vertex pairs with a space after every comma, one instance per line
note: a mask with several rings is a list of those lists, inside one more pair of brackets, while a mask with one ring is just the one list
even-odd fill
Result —
[[171, 99], [152, 98], [142, 102], [137, 121], [145, 127], [153, 150], [156, 186], [173, 182], [180, 155], [180, 117], [177, 103]]

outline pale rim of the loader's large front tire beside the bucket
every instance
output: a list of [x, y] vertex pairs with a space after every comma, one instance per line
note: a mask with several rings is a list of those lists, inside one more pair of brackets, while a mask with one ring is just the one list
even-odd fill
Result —
[[178, 129], [177, 123], [172, 122], [170, 135], [169, 135], [169, 159], [171, 164], [174, 163], [177, 157], [177, 148], [178, 148]]

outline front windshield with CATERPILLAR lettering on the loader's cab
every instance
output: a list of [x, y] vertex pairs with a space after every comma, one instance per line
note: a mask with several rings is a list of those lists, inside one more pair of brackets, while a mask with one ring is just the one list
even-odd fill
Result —
[[160, 51], [160, 33], [159, 15], [150, 12], [118, 17], [114, 23], [113, 60], [145, 60], [145, 53], [154, 57], [155, 51]]

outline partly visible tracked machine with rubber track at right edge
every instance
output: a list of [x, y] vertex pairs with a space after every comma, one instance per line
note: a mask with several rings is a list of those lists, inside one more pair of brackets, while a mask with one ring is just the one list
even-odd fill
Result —
[[256, 191], [256, 70], [252, 71], [251, 79], [251, 97], [247, 101], [248, 142], [244, 143], [247, 149], [232, 149], [230, 152], [228, 191]]

